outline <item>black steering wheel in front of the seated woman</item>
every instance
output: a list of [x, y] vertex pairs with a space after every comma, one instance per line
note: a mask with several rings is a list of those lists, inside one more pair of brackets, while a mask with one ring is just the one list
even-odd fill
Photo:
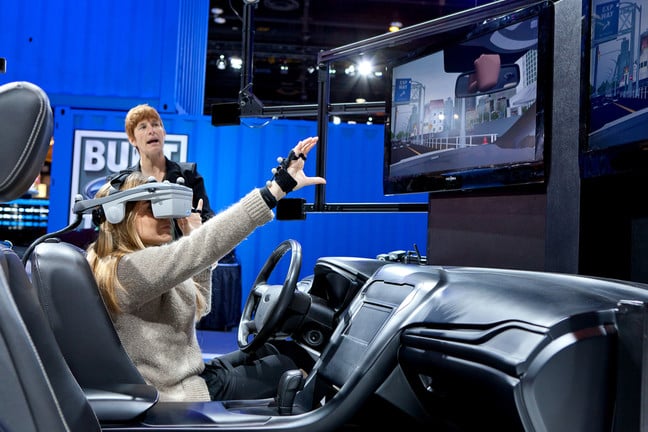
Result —
[[[283, 285], [269, 285], [272, 271], [288, 251], [291, 251], [290, 265]], [[286, 240], [272, 251], [243, 307], [237, 336], [241, 351], [257, 350], [279, 330], [297, 288], [301, 262], [301, 245], [296, 240]]]

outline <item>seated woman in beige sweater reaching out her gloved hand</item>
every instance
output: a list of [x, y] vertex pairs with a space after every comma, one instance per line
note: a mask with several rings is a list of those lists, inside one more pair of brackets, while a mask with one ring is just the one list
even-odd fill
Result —
[[[156, 219], [150, 201], [127, 202], [118, 223], [95, 215], [99, 234], [88, 248], [88, 261], [124, 348], [161, 400], [273, 397], [283, 372], [296, 368], [270, 344], [255, 354], [236, 351], [205, 364], [195, 326], [211, 305], [212, 265], [270, 222], [272, 208], [288, 192], [326, 183], [304, 173], [316, 143], [316, 137], [300, 141], [267, 186], [206, 222], [198, 213], [179, 219], [183, 236], [175, 241], [173, 219]], [[125, 173], [95, 198], [147, 181], [140, 172]]]

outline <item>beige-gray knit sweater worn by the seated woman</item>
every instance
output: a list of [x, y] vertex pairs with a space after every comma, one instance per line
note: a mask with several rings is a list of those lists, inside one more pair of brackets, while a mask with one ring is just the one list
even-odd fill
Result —
[[273, 218], [258, 189], [191, 235], [124, 256], [117, 267], [124, 348], [160, 400], [209, 400], [196, 339], [196, 290], [211, 306], [211, 266]]

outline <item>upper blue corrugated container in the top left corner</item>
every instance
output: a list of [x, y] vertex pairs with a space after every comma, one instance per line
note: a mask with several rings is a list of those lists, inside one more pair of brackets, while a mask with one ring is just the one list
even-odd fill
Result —
[[[196, 12], [201, 8], [204, 19]], [[0, 56], [7, 59], [2, 83], [31, 81], [53, 105], [81, 108], [128, 109], [147, 102], [175, 112], [185, 101], [204, 98], [195, 89], [177, 101], [176, 89], [180, 45], [182, 57], [194, 63], [192, 73], [206, 56], [208, 0], [0, 0], [0, 10]], [[194, 33], [180, 37], [181, 22]], [[201, 52], [188, 54], [191, 49]], [[204, 81], [204, 71], [194, 78]]]

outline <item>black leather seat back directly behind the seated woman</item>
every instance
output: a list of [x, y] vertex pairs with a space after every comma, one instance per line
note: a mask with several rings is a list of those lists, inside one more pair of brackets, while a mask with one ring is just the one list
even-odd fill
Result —
[[40, 304], [81, 387], [145, 384], [119, 340], [85, 252], [48, 239], [34, 248], [30, 262]]

